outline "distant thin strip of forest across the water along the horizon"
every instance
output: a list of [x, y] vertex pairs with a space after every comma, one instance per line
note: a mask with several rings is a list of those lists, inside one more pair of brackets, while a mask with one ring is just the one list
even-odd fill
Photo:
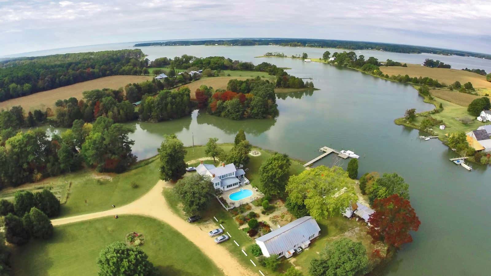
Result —
[[460, 51], [441, 49], [425, 46], [414, 46], [404, 44], [391, 44], [382, 42], [367, 42], [367, 41], [350, 41], [350, 40], [330, 40], [330, 39], [305, 39], [305, 38], [278, 38], [278, 39], [227, 39], [227, 40], [179, 40], [179, 41], [165, 41], [165, 42], [147, 42], [137, 43], [135, 47], [144, 46], [182, 46], [182, 45], [241, 45], [241, 46], [254, 46], [254, 45], [280, 45], [280, 46], [307, 46], [307, 47], [320, 47], [320, 48], [338, 48], [347, 50], [363, 50], [373, 49], [382, 50], [395, 53], [433, 53], [437, 55], [460, 55], [460, 56], [475, 56], [479, 58], [491, 59], [491, 55]]

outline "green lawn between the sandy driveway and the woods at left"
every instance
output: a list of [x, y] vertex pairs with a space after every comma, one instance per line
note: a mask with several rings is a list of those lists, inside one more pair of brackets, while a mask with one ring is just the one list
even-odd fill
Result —
[[[111, 209], [111, 204], [119, 207], [134, 201], [159, 181], [160, 161], [157, 158], [153, 160], [148, 165], [121, 174], [97, 174], [90, 169], [67, 173], [40, 183], [5, 189], [0, 193], [0, 198], [11, 199], [16, 190], [30, 190], [32, 187], [54, 187], [55, 190], [60, 190], [69, 185], [66, 203], [61, 205], [60, 217], [108, 210]], [[132, 182], [135, 182], [138, 188], [132, 188]]]

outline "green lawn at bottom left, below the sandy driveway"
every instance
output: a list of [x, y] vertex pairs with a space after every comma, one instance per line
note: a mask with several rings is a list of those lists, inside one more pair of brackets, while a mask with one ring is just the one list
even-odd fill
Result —
[[141, 249], [162, 275], [223, 275], [177, 230], [161, 221], [140, 216], [120, 216], [118, 220], [109, 217], [56, 226], [52, 239], [33, 240], [14, 252], [11, 257], [13, 275], [97, 275], [99, 252], [112, 242], [124, 242], [125, 235], [132, 231], [144, 234], [145, 244]]

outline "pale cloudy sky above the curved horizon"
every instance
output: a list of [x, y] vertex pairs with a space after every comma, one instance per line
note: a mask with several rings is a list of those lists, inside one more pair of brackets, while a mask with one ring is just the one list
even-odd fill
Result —
[[237, 37], [362, 40], [491, 54], [491, 0], [0, 0], [0, 56]]

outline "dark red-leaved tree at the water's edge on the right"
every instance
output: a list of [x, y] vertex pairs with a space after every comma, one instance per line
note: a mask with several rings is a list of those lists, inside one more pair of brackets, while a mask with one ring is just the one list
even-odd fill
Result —
[[390, 250], [412, 242], [409, 231], [417, 231], [421, 221], [408, 199], [392, 194], [375, 200], [373, 210], [375, 213], [368, 219], [372, 225], [368, 230], [372, 243], [381, 241], [389, 245]]

